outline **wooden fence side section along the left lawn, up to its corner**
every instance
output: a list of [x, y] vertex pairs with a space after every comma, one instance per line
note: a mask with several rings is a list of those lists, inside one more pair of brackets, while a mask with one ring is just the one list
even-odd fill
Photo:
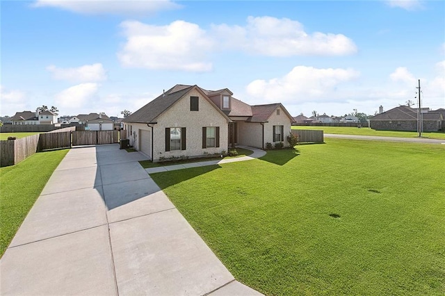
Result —
[[0, 141], [0, 167], [15, 165], [37, 151], [40, 135]]

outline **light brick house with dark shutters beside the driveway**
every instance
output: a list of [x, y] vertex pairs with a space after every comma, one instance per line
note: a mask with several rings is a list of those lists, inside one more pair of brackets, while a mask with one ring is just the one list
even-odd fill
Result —
[[220, 154], [239, 144], [284, 142], [293, 118], [282, 104], [250, 106], [227, 88], [175, 85], [122, 120], [130, 145], [153, 161]]

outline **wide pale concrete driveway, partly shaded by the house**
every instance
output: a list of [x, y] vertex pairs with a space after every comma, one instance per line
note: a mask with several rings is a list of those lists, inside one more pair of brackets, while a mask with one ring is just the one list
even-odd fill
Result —
[[0, 260], [0, 294], [261, 295], [235, 281], [145, 159], [71, 149]]

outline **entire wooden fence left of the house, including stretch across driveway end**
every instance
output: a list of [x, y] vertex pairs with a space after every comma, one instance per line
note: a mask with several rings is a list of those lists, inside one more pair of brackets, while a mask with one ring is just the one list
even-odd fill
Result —
[[119, 142], [119, 131], [66, 131], [67, 129], [30, 135], [17, 140], [0, 141], [0, 167], [16, 165], [37, 151]]

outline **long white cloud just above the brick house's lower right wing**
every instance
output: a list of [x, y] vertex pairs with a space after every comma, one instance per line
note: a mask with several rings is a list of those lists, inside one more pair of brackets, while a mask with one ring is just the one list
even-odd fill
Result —
[[295, 104], [304, 101], [332, 101], [341, 99], [345, 94], [337, 90], [338, 85], [358, 76], [359, 72], [354, 69], [297, 66], [280, 78], [252, 81], [246, 91], [263, 102]]

